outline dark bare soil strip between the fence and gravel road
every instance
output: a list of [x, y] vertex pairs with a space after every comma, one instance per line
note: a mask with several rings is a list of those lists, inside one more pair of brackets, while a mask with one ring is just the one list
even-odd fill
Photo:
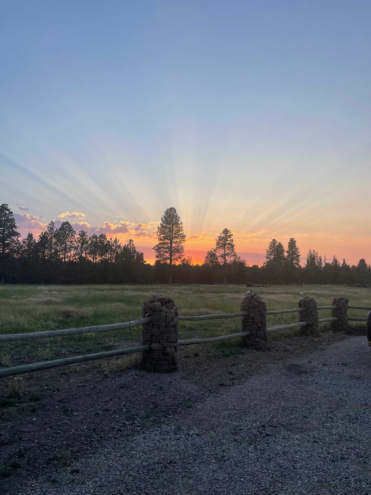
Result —
[[[138, 368], [105, 374], [89, 363], [23, 375], [21, 395], [0, 407], [1, 492], [16, 494], [23, 479], [50, 471], [53, 464], [75, 473], [74, 461], [107, 440], [125, 439], [155, 424], [171, 423], [182, 410], [264, 373], [271, 363], [348, 338], [325, 333], [283, 339], [270, 343], [266, 352], [241, 348], [227, 357], [220, 355], [223, 348], [180, 347], [179, 371], [171, 374]], [[7, 382], [1, 382], [0, 397], [4, 397]]]

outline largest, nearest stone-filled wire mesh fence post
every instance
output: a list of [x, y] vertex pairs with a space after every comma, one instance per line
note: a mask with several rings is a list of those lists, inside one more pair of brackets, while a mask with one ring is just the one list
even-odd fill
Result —
[[151, 321], [143, 325], [142, 345], [151, 348], [142, 352], [142, 367], [157, 373], [177, 370], [178, 309], [173, 299], [160, 295], [144, 302], [142, 318]]

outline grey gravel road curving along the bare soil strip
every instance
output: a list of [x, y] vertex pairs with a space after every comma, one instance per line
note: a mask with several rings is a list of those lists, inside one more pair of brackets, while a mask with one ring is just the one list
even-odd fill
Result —
[[370, 352], [353, 337], [273, 363], [19, 495], [371, 494]]

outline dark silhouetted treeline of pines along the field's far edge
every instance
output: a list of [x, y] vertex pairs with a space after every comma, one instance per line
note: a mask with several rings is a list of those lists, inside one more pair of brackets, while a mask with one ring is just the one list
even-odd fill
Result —
[[[168, 211], [168, 210], [167, 210]], [[174, 213], [175, 212], [175, 213]], [[176, 210], [174, 209], [176, 215]], [[171, 218], [174, 218], [171, 217]], [[162, 220], [164, 217], [162, 218]], [[166, 217], [165, 217], [166, 220]], [[162, 222], [164, 224], [164, 222]], [[171, 225], [174, 222], [171, 221]], [[181, 225], [181, 222], [179, 221]], [[162, 232], [166, 231], [163, 228]], [[160, 232], [161, 233], [161, 232]], [[331, 262], [310, 250], [304, 267], [295, 239], [287, 249], [273, 239], [263, 266], [248, 266], [234, 250], [232, 233], [224, 229], [202, 265], [194, 265], [179, 248], [167, 256], [167, 237], [158, 236], [158, 255], [154, 265], [145, 262], [132, 239], [121, 246], [119, 240], [105, 234], [76, 234], [69, 222], [59, 228], [50, 222], [38, 239], [29, 233], [20, 240], [13, 213], [7, 204], [0, 205], [0, 282], [25, 284], [155, 284], [167, 283], [169, 272], [173, 283], [194, 284], [350, 284], [371, 286], [371, 267], [364, 259], [349, 266], [334, 256]], [[183, 230], [178, 239], [184, 243]], [[160, 244], [162, 243], [162, 244]], [[174, 252], [176, 255], [174, 255]], [[167, 259], [176, 258], [174, 264]]]

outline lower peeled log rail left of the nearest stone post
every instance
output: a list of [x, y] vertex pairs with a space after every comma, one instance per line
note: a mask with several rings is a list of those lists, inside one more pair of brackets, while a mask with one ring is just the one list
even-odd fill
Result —
[[85, 361], [93, 361], [94, 359], [103, 359], [105, 357], [122, 356], [124, 354], [133, 354], [148, 350], [150, 346], [130, 347], [128, 349], [107, 350], [104, 352], [95, 352], [94, 354], [84, 354], [82, 356], [66, 357], [64, 359], [55, 359], [54, 361], [43, 361], [41, 363], [24, 364], [22, 366], [13, 366], [11, 368], [0, 369], [0, 377], [11, 375], [22, 375], [23, 373], [31, 373], [32, 371], [46, 370], [48, 368], [58, 368], [67, 364], [83, 363]]

